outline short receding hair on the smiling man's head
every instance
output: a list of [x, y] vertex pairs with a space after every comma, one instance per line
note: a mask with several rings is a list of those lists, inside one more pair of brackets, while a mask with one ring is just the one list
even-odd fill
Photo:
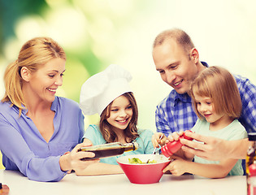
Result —
[[186, 32], [179, 28], [172, 28], [158, 34], [154, 39], [153, 48], [158, 45], [163, 45], [163, 42], [170, 39], [176, 41], [178, 45], [181, 45], [185, 52], [189, 52], [195, 47], [193, 41]]

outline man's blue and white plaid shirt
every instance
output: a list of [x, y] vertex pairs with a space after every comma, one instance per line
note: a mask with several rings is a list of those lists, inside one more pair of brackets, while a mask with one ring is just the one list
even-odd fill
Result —
[[[239, 121], [247, 132], [256, 132], [256, 86], [244, 77], [234, 77], [243, 105]], [[155, 111], [157, 132], [163, 132], [166, 136], [171, 132], [191, 129], [196, 121], [197, 115], [189, 95], [176, 93], [174, 89], [158, 104]]]

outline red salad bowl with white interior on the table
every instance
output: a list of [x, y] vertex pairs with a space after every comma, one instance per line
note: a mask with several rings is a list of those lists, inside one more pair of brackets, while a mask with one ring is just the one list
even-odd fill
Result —
[[[143, 163], [148, 159], [154, 159], [157, 163], [131, 164], [128, 158], [139, 158]], [[132, 184], [154, 184], [159, 182], [163, 176], [163, 168], [170, 163], [170, 160], [159, 154], [134, 154], [117, 158], [117, 163]]]

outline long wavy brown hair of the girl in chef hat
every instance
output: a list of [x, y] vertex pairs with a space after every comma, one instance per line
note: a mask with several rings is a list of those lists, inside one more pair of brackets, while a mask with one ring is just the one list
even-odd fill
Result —
[[[128, 124], [128, 127], [124, 130], [125, 141], [132, 142], [139, 136], [137, 133], [137, 119], [138, 119], [137, 102], [132, 92], [124, 93], [123, 96], [128, 98], [128, 101], [132, 105], [132, 119]], [[102, 137], [104, 137], [104, 139], [106, 140], [106, 143], [115, 142], [117, 141], [117, 138], [118, 138], [116, 133], [112, 130], [111, 124], [109, 124], [106, 120], [111, 116], [112, 103], [113, 102], [111, 102], [108, 106], [106, 106], [105, 110], [102, 111], [102, 115], [99, 123], [99, 128], [100, 128], [100, 131], [102, 132]]]

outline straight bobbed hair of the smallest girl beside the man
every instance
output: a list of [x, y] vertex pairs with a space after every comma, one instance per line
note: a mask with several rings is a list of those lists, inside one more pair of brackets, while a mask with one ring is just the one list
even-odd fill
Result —
[[209, 97], [213, 102], [216, 113], [224, 113], [232, 119], [241, 115], [242, 103], [236, 80], [230, 72], [223, 67], [208, 67], [193, 81], [190, 90], [193, 106], [197, 116], [203, 116], [197, 111], [194, 94]]

